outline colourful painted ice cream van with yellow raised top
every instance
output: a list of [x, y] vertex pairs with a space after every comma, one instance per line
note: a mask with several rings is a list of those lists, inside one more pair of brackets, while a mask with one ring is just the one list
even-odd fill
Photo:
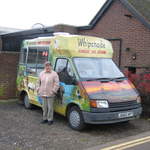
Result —
[[67, 117], [72, 129], [139, 118], [139, 93], [112, 56], [112, 44], [98, 37], [58, 34], [25, 40], [17, 76], [19, 99], [26, 108], [42, 106], [37, 78], [49, 60], [60, 79], [54, 110]]

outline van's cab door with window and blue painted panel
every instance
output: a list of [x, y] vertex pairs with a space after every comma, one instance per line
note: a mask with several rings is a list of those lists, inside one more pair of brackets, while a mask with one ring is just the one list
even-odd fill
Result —
[[75, 79], [71, 63], [66, 58], [57, 58], [55, 71], [60, 80], [60, 91], [55, 101], [55, 111], [65, 115], [66, 106], [73, 101], [73, 90], [75, 88]]

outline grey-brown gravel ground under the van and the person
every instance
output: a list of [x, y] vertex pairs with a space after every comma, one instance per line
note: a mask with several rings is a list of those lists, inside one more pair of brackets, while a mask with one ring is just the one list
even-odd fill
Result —
[[18, 102], [0, 102], [0, 150], [82, 150], [150, 130], [150, 120], [89, 125], [78, 132], [55, 114], [54, 124], [40, 124], [42, 110], [27, 110]]

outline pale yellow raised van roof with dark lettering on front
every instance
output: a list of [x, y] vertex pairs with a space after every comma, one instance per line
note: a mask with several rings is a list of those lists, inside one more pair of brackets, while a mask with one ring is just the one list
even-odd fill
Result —
[[83, 35], [55, 35], [23, 42], [24, 47], [49, 46], [56, 56], [112, 58], [112, 44], [103, 38]]

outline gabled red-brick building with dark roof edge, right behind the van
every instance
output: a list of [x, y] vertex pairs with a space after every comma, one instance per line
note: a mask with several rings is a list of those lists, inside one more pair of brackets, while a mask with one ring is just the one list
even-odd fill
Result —
[[150, 67], [150, 1], [107, 0], [80, 34], [112, 40], [114, 60], [124, 69], [142, 72]]

